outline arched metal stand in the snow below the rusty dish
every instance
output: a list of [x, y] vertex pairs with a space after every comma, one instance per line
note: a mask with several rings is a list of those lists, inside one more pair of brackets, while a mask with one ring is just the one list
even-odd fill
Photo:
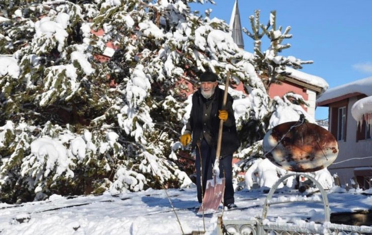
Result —
[[[270, 188], [270, 191], [268, 192], [268, 195], [266, 197], [265, 203], [263, 204], [263, 209], [262, 209], [262, 220], [266, 218], [268, 207], [271, 204], [280, 204], [280, 203], [287, 203], [287, 202], [274, 202], [270, 203], [270, 200], [272, 198], [272, 195], [274, 194], [275, 190], [277, 187], [285, 181], [287, 178], [291, 176], [305, 176], [306, 178], [310, 179], [311, 181], [314, 182], [314, 184], [318, 187], [320, 193], [322, 194], [323, 198], [323, 204], [324, 204], [324, 222], [329, 222], [330, 221], [330, 212], [329, 212], [329, 202], [328, 202], [328, 197], [326, 192], [324, 191], [322, 185], [312, 176], [306, 175], [304, 173], [290, 173], [285, 176], [282, 176], [280, 179], [278, 179], [275, 184]], [[292, 201], [291, 201], [292, 202]]]

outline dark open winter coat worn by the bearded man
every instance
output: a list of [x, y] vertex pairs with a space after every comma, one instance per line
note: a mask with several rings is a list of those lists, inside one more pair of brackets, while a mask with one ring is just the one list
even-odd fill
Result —
[[[222, 129], [222, 142], [221, 142], [221, 157], [233, 154], [240, 146], [238, 135], [236, 131], [236, 124], [234, 118], [234, 110], [232, 108], [233, 98], [230, 94], [227, 96], [226, 107], [223, 108], [223, 95], [224, 90], [216, 87], [215, 93], [213, 95], [212, 110], [211, 110], [211, 134], [212, 143], [211, 145], [217, 146], [218, 140], [218, 129], [220, 124], [220, 119], [218, 118], [218, 110], [226, 109], [228, 111], [228, 119], [224, 122]], [[198, 139], [202, 135], [202, 118], [203, 118], [203, 107], [204, 107], [204, 97], [201, 94], [200, 89], [198, 89], [193, 95], [193, 106], [190, 113], [189, 122], [186, 125], [186, 131], [193, 134], [192, 147], [197, 145]]]

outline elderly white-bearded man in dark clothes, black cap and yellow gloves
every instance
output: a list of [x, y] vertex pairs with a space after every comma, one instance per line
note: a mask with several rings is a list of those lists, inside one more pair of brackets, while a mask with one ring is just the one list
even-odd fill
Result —
[[232, 108], [233, 98], [228, 94], [226, 106], [222, 107], [224, 91], [217, 86], [217, 75], [213, 72], [203, 73], [200, 82], [200, 88], [193, 95], [190, 118], [180, 142], [182, 145], [188, 145], [192, 140], [192, 148], [196, 148], [198, 201], [201, 203], [207, 180], [213, 177], [219, 122], [224, 121], [219, 163], [220, 178], [226, 179], [224, 206], [228, 209], [235, 208], [232, 155], [240, 143]]

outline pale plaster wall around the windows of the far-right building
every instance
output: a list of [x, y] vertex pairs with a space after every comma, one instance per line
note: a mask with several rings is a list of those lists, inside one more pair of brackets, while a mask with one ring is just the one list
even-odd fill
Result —
[[[361, 140], [356, 142], [357, 122], [352, 118], [351, 107], [357, 101], [356, 97], [348, 99], [346, 116], [346, 141], [338, 141], [338, 156], [333, 164], [328, 167], [331, 174], [337, 174], [341, 184], [349, 184], [354, 177], [354, 169], [361, 167], [372, 167], [372, 140]], [[330, 105], [330, 107], [332, 107]], [[337, 119], [330, 112], [330, 120]]]

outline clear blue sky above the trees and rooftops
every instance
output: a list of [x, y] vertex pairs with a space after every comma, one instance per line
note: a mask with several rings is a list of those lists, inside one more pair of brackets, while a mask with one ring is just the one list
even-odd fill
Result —
[[[230, 22], [235, 0], [215, 0], [212, 4], [191, 4], [192, 10], [211, 18]], [[281, 55], [313, 60], [301, 71], [322, 77], [330, 88], [372, 76], [372, 1], [371, 0], [239, 0], [242, 27], [250, 30], [249, 16], [260, 10], [266, 24], [270, 11], [276, 11], [276, 26], [291, 26], [291, 44]], [[250, 30], [251, 31], [251, 30]], [[283, 32], [283, 30], [282, 30]], [[244, 49], [252, 51], [253, 40], [243, 33]], [[268, 45], [263, 42], [262, 50]], [[327, 107], [317, 107], [316, 120], [328, 118]]]

